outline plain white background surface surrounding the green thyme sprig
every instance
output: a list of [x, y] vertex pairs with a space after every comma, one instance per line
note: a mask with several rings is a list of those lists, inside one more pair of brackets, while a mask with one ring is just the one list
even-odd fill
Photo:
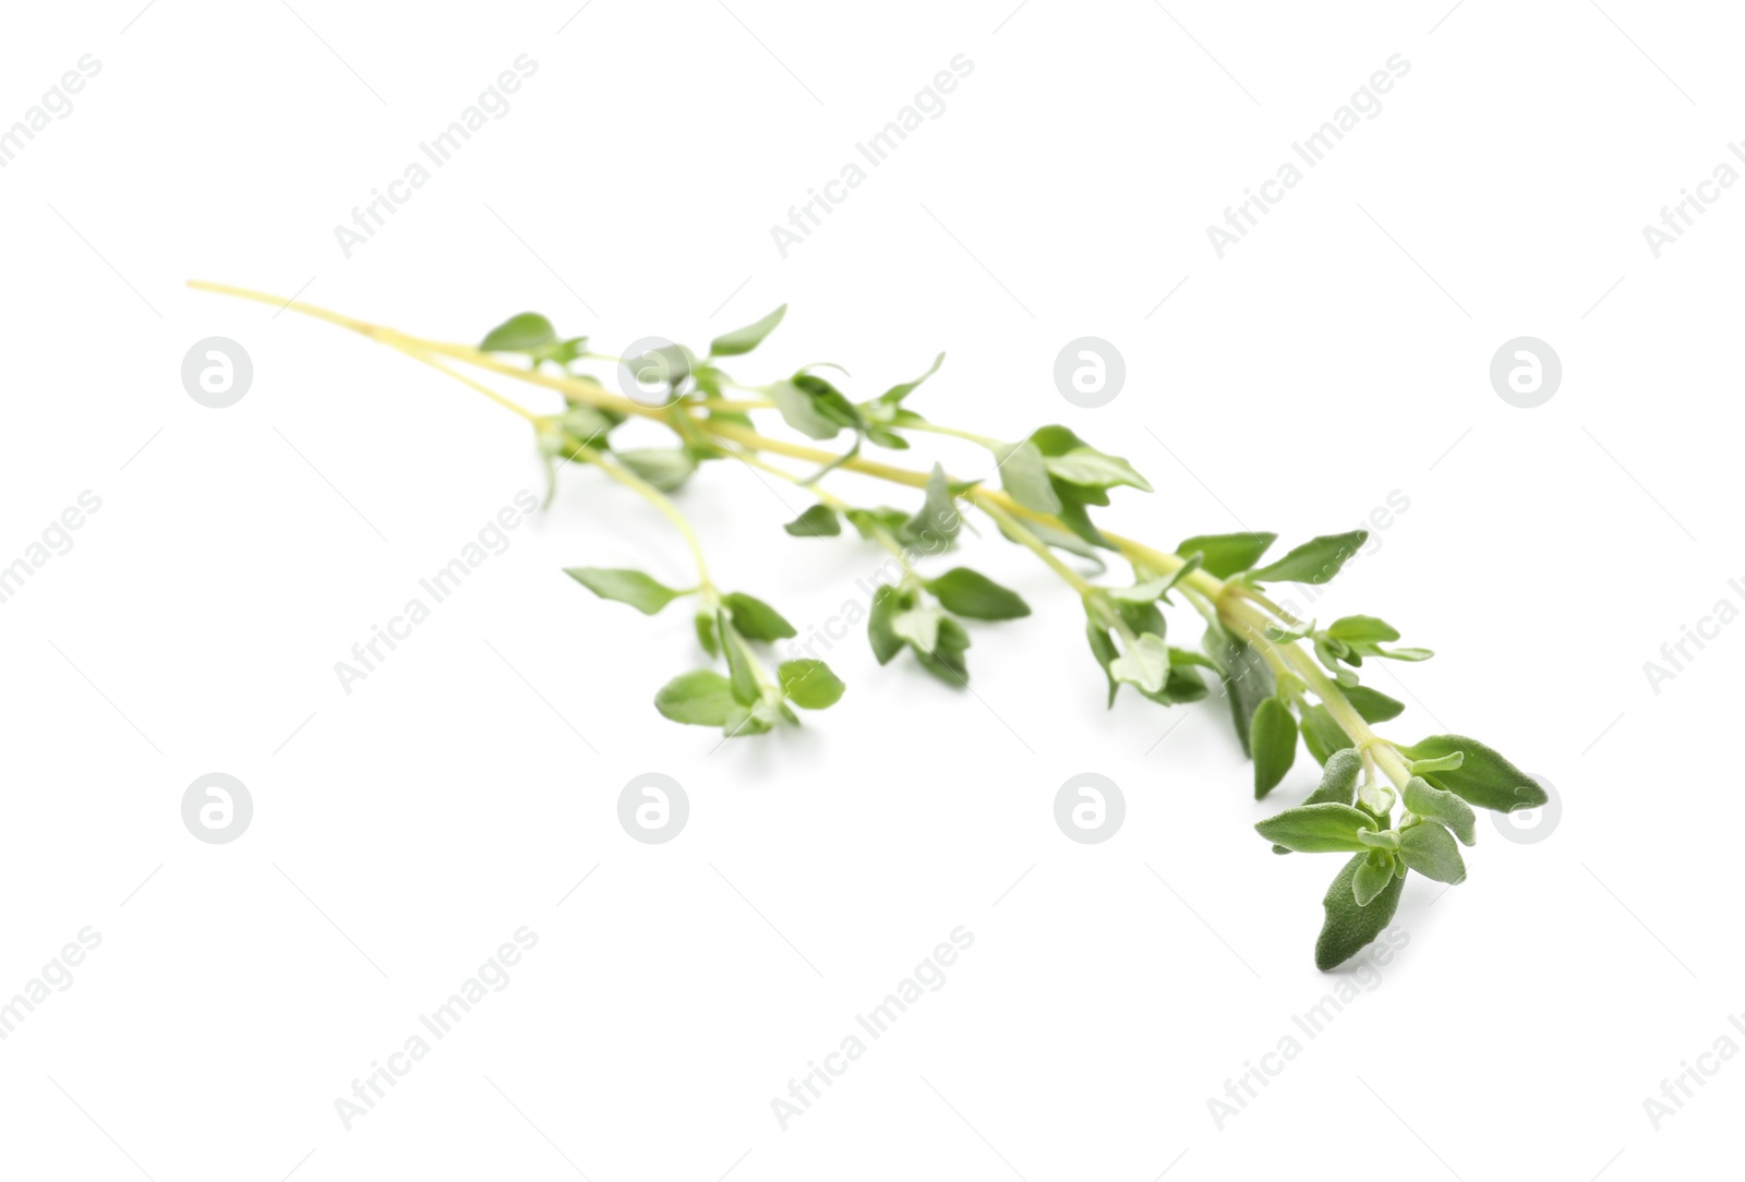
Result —
[[[1742, 601], [1745, 192], [1658, 260], [1642, 227], [1745, 132], [1736, 14], [729, 3], [9, 12], [0, 124], [82, 54], [101, 73], [0, 171], [0, 560], [80, 492], [101, 509], [0, 605], [0, 995], [80, 927], [103, 941], [0, 1043], [3, 1172], [1728, 1170], [1745, 1067], [1658, 1131], [1644, 1098], [1717, 1037], [1745, 1044], [1745, 636], [1659, 694], [1642, 664]], [[518, 54], [539, 68], [510, 113], [347, 260], [333, 227]], [[974, 73], [944, 115], [782, 258], [770, 227], [955, 54]], [[1382, 112], [1216, 258], [1206, 227], [1391, 54], [1410, 73]], [[749, 378], [831, 359], [866, 397], [946, 349], [918, 410], [1127, 455], [1157, 492], [1106, 520], [1162, 546], [1291, 544], [1398, 490], [1410, 509], [1314, 610], [1436, 649], [1377, 676], [1412, 704], [1387, 732], [1476, 734], [1560, 790], [1562, 823], [1523, 846], [1482, 819], [1433, 910], [1440, 887], [1410, 882], [1380, 983], [1220, 1130], [1208, 1100], [1349, 980], [1310, 955], [1337, 859], [1274, 858], [1249, 828], [1310, 788], [1307, 758], [1256, 805], [1218, 701], [1105, 713], [1071, 594], [986, 526], [963, 560], [1037, 612], [975, 629], [974, 697], [878, 669], [855, 635], [829, 652], [836, 710], [712, 753], [649, 706], [701, 659], [689, 614], [560, 574], [688, 577], [665, 521], [588, 472], [347, 696], [333, 662], [541, 488], [529, 432], [188, 277], [450, 340], [539, 309], [607, 349], [790, 302]], [[255, 364], [229, 410], [180, 382], [213, 335]], [[1101, 410], [1050, 377], [1082, 335], [1126, 357]], [[1518, 335], [1564, 361], [1537, 410], [1488, 384]], [[717, 464], [682, 500], [719, 581], [806, 629], [879, 556], [785, 537], [806, 499], [778, 495]], [[211, 771], [253, 795], [230, 846], [181, 825]], [[649, 771], [689, 793], [668, 846], [616, 819]], [[1103, 846], [1052, 819], [1082, 771], [1126, 791]], [[346, 1131], [335, 1098], [524, 924], [539, 943], [511, 983]], [[782, 1131], [770, 1100], [960, 924], [975, 943], [948, 983]]]

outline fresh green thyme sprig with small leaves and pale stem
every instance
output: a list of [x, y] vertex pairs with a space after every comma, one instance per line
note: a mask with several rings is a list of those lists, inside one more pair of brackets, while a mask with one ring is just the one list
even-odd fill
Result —
[[[595, 596], [646, 615], [677, 600], [695, 601], [696, 642], [712, 664], [679, 673], [654, 696], [654, 708], [679, 723], [717, 727], [729, 737], [764, 734], [797, 725], [796, 708], [829, 710], [845, 692], [824, 661], [780, 661], [771, 669], [766, 649], [792, 638], [794, 626], [764, 600], [721, 591], [710, 579], [703, 546], [668, 495], [703, 465], [740, 460], [811, 493], [817, 504], [784, 525], [797, 539], [841, 537], [846, 521], [860, 539], [888, 551], [902, 574], [872, 598], [872, 654], [888, 664], [909, 652], [953, 687], [968, 683], [972, 626], [1030, 615], [1016, 591], [977, 570], [916, 570], [916, 556], [953, 547], [965, 509], [984, 514], [1002, 537], [1035, 554], [1078, 596], [1110, 704], [1122, 687], [1162, 706], [1199, 701], [1220, 687], [1253, 760], [1256, 800], [1284, 781], [1300, 748], [1321, 765], [1321, 783], [1304, 804], [1255, 826], [1281, 854], [1345, 854], [1323, 900], [1326, 917], [1316, 943], [1321, 969], [1356, 955], [1393, 920], [1412, 872], [1447, 884], [1466, 880], [1461, 847], [1476, 840], [1475, 807], [1511, 812], [1548, 800], [1530, 776], [1476, 739], [1433, 734], [1399, 743], [1373, 729], [1393, 722], [1405, 706], [1363, 685], [1365, 662], [1424, 661], [1431, 657], [1427, 649], [1399, 645], [1399, 631], [1375, 615], [1344, 615], [1319, 626], [1297, 619], [1267, 594], [1276, 582], [1331, 581], [1365, 544], [1363, 530], [1309, 539], [1265, 565], [1260, 561], [1277, 540], [1272, 533], [1194, 535], [1164, 551], [1103, 530], [1092, 509], [1108, 506], [1117, 488], [1152, 492], [1145, 476], [1061, 425], [1023, 439], [993, 439], [925, 418], [909, 399], [939, 371], [944, 354], [918, 377], [864, 401], [839, 389], [836, 368], [824, 364], [742, 385], [724, 363], [756, 352], [782, 323], [784, 305], [717, 336], [703, 354], [670, 345], [633, 359], [644, 366], [640, 377], [653, 377], [660, 387], [660, 404], [651, 406], [609, 391], [585, 370], [621, 364], [618, 357], [590, 352], [585, 336], [560, 336], [534, 312], [510, 317], [478, 345], [464, 345], [243, 288], [190, 286], [291, 309], [398, 349], [525, 418], [553, 488], [558, 464], [586, 464], [653, 504], [691, 553], [693, 586], [668, 588], [639, 570], [574, 567], [567, 574]], [[553, 391], [562, 408], [530, 411], [454, 363]], [[764, 434], [754, 422], [757, 413], [778, 417], [808, 443]], [[668, 427], [674, 445], [616, 446], [614, 431], [632, 418]], [[953, 478], [937, 464], [923, 471], [864, 455], [866, 448], [906, 452], [921, 434], [984, 448], [998, 486], [989, 478]], [[810, 469], [789, 471], [771, 457]], [[920, 492], [920, 504], [848, 504], [822, 486], [839, 469]], [[1091, 560], [1094, 572], [1080, 574], [1068, 558]], [[1108, 560], [1126, 563], [1129, 584], [1092, 581], [1106, 572]], [[1199, 647], [1171, 643], [1164, 608], [1181, 605], [1204, 622]]]

